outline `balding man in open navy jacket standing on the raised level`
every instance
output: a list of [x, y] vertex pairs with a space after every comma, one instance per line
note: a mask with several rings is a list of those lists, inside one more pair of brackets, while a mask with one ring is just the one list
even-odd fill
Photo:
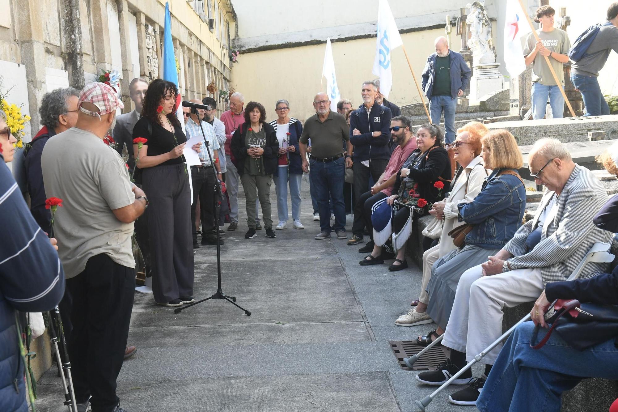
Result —
[[429, 99], [431, 122], [440, 124], [444, 113], [444, 140], [447, 145], [455, 141], [455, 109], [457, 97], [464, 95], [470, 85], [470, 67], [461, 54], [449, 50], [446, 37], [436, 39], [436, 53], [427, 58], [423, 70], [423, 92]]

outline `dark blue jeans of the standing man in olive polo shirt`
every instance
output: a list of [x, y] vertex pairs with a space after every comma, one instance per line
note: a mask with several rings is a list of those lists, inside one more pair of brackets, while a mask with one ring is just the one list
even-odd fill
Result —
[[332, 213], [335, 215], [335, 231], [345, 231], [344, 176], [345, 158], [323, 163], [309, 159], [311, 189], [318, 202], [320, 229], [331, 233], [330, 199]]

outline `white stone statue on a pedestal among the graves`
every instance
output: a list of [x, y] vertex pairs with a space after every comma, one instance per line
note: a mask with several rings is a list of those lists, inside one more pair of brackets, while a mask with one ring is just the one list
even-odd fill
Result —
[[468, 4], [470, 9], [466, 23], [470, 27], [470, 41], [468, 45], [472, 49], [473, 66], [496, 62], [496, 48], [491, 40], [491, 22], [485, 7], [480, 1]]

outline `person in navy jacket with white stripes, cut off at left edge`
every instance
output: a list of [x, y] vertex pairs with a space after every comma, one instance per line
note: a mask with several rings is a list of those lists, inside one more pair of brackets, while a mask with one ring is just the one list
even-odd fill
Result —
[[4, 234], [0, 240], [0, 411], [27, 412], [15, 311], [43, 312], [56, 307], [64, 293], [64, 271], [2, 155], [0, 226]]

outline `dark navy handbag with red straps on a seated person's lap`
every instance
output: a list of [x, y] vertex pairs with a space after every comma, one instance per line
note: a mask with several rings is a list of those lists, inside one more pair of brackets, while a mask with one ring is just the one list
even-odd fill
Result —
[[541, 325], [530, 337], [530, 347], [543, 348], [554, 330], [578, 351], [618, 336], [618, 306], [580, 303], [575, 299], [557, 299], [545, 315], [551, 327], [539, 343], [534, 343]]

